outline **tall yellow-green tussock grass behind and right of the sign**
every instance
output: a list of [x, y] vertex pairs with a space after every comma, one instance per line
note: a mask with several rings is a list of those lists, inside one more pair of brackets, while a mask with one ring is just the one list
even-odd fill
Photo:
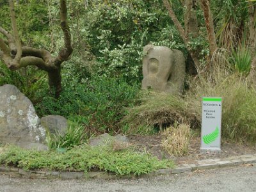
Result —
[[[225, 76], [218, 72], [214, 81], [194, 84], [189, 93], [191, 102], [196, 97], [222, 97], [222, 138], [232, 141], [255, 143], [256, 140], [256, 90], [248, 87], [247, 80], [239, 74]], [[199, 112], [199, 111], [198, 111]]]

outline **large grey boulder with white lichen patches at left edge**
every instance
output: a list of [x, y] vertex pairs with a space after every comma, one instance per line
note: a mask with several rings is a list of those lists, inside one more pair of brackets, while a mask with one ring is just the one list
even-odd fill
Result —
[[11, 84], [0, 86], [0, 143], [44, 143], [45, 129], [31, 101]]

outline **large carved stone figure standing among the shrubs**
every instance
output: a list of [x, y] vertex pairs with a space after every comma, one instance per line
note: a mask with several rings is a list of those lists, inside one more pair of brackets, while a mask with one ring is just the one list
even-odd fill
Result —
[[143, 54], [142, 88], [181, 93], [186, 70], [182, 52], [164, 46], [146, 45]]

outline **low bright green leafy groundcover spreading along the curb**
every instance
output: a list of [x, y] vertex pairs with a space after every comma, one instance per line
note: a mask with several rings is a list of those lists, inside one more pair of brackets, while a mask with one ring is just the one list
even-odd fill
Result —
[[101, 170], [118, 175], [141, 175], [161, 168], [172, 168], [173, 161], [159, 161], [150, 154], [131, 149], [114, 152], [108, 147], [82, 145], [67, 152], [39, 152], [10, 146], [0, 156], [0, 164], [17, 166], [25, 170], [58, 170], [90, 172]]

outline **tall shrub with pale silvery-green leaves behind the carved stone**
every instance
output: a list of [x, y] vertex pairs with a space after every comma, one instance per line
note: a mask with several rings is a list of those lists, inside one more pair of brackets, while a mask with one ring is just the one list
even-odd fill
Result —
[[[95, 0], [89, 1], [85, 9], [81, 5], [72, 8], [72, 17], [77, 20], [74, 28], [80, 28], [76, 44], [80, 49], [86, 45], [86, 50], [95, 55], [97, 65], [93, 71], [99, 76], [122, 77], [137, 83], [142, 79], [145, 45], [161, 44], [184, 50], [161, 0]], [[183, 17], [182, 6], [175, 7], [175, 11]]]

